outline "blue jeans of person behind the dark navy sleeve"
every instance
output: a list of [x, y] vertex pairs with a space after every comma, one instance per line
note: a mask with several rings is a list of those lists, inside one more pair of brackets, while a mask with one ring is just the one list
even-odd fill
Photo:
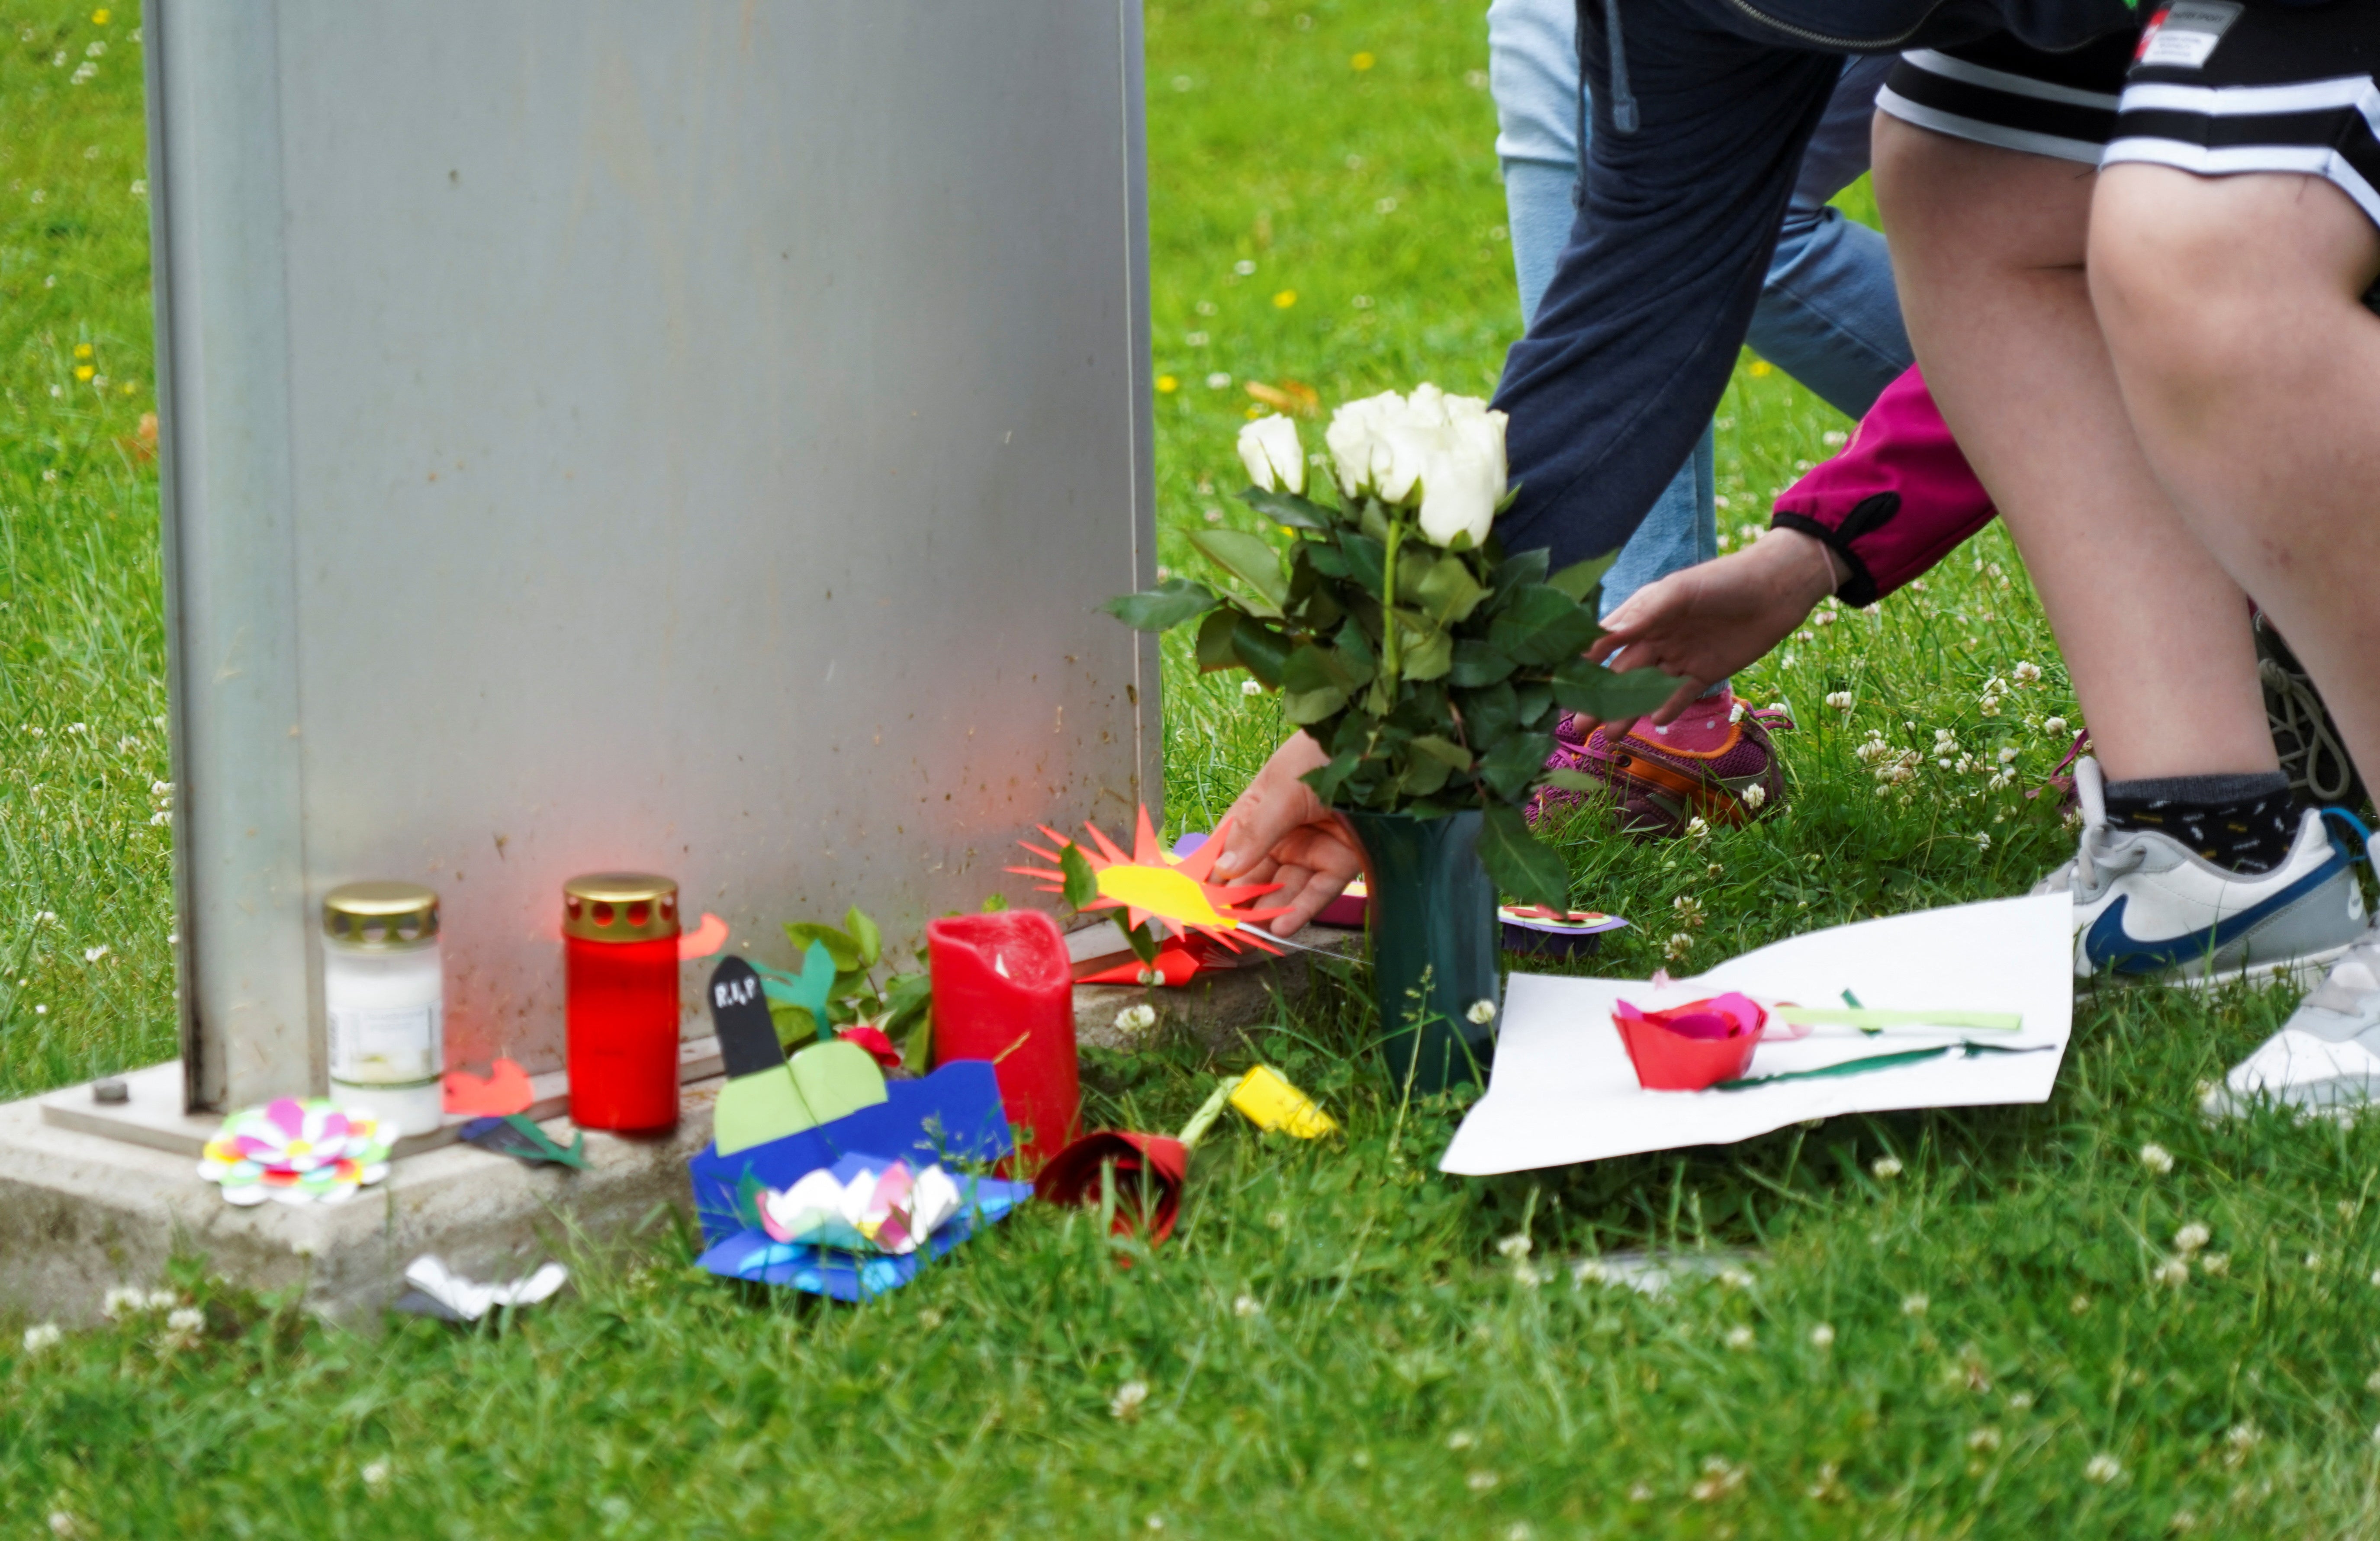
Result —
[[[1488, 79], [1523, 319], [1537, 314], [1554, 264], [1583, 222], [1573, 193], [1587, 114], [1573, 2], [1492, 0], [1488, 7]], [[1883, 236], [1825, 202], [1868, 169], [1868, 119], [1890, 64], [1890, 57], [1852, 60], [1842, 71], [1802, 155], [1775, 257], [1752, 310], [1752, 348], [1844, 417], [1861, 417], [1914, 360]], [[1711, 429], [1704, 426], [1604, 576], [1606, 614], [1645, 584], [1718, 555], [1711, 462]]]

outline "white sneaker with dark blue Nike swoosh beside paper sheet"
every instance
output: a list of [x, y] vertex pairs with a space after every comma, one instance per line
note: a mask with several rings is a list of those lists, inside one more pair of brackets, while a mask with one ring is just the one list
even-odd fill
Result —
[[2109, 829], [2097, 760], [2075, 762], [2075, 860], [2033, 888], [2073, 893], [2075, 979], [2223, 984], [2311, 972], [2366, 934], [2363, 891], [2316, 810], [2297, 826], [2290, 860], [2240, 874], [2168, 834]]

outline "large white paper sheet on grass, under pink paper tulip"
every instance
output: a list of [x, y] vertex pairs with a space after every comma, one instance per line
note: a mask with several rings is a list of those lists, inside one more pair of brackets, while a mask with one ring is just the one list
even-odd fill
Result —
[[[1687, 981], [1680, 981], [1687, 984]], [[2042, 893], [1949, 910], [1918, 910], [1795, 936], [1733, 957], [1690, 981], [1766, 1003], [1873, 1010], [2018, 1012], [2013, 1034], [1894, 1029], [1878, 1036], [1821, 1029], [1764, 1041], [1747, 1074], [1818, 1069], [1861, 1055], [1971, 1038], [2033, 1055], [1949, 1053], [1816, 1081], [1747, 1091], [1645, 1091], [1611, 1027], [1611, 1003], [1640, 1000], [1640, 979], [1514, 974], [1504, 986], [1488, 1096], [1454, 1131], [1440, 1172], [1488, 1177], [1571, 1162], [1730, 1146], [1802, 1119], [1897, 1108], [2047, 1103], [2073, 1034], [2073, 898]]]

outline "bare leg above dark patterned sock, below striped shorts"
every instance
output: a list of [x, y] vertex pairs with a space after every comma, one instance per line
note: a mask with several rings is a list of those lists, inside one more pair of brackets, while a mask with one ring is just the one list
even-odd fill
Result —
[[1909, 338], [2025, 553], [2106, 774], [2271, 772], [2247, 598], [2152, 476], [2092, 317], [2094, 181], [1875, 119]]

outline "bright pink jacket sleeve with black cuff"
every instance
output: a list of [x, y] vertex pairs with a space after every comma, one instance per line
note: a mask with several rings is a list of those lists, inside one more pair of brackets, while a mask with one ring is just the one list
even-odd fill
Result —
[[1771, 524], [1816, 536], [1852, 576], [1844, 605], [1873, 605], [1992, 519], [1992, 498], [1911, 367], [1859, 419], [1842, 455], [1795, 481]]

